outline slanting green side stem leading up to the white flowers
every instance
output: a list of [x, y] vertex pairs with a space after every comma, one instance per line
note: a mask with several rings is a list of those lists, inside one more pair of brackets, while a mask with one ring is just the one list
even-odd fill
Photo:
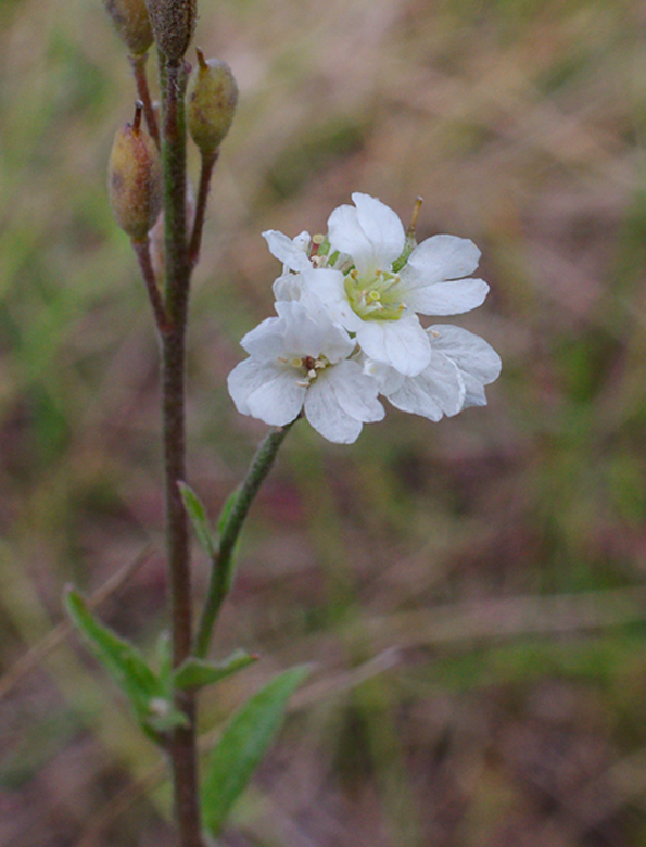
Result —
[[295, 421], [292, 421], [287, 427], [275, 427], [269, 431], [269, 434], [253, 457], [246, 477], [225, 517], [224, 527], [220, 529], [217, 554], [212, 562], [206, 601], [202, 609], [195, 637], [193, 654], [198, 658], [203, 659], [208, 653], [208, 645], [218, 612], [225, 597], [229, 593], [233, 570], [233, 551], [244, 519], [255, 495], [271, 470], [280, 445], [294, 423]]

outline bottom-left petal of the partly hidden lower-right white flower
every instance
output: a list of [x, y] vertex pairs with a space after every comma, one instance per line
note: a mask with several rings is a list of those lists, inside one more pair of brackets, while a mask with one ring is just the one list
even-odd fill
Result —
[[441, 353], [419, 376], [407, 379], [388, 399], [403, 412], [438, 421], [443, 415], [456, 415], [464, 406], [466, 388], [457, 366]]

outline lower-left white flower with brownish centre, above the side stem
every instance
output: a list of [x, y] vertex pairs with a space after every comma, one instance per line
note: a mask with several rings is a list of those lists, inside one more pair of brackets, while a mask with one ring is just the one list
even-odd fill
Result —
[[303, 409], [321, 435], [351, 444], [365, 422], [384, 416], [377, 382], [349, 358], [355, 342], [299, 302], [279, 302], [276, 311], [242, 339], [250, 357], [228, 378], [238, 410], [282, 427]]

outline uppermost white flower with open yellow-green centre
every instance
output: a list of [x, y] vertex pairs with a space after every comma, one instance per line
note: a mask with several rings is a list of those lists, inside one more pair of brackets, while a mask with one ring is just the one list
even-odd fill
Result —
[[301, 260], [299, 267], [295, 261], [286, 264], [300, 275], [299, 291], [318, 298], [334, 321], [355, 333], [369, 358], [415, 377], [431, 361], [429, 338], [416, 313], [456, 315], [481, 305], [486, 282], [463, 279], [478, 266], [480, 251], [467, 239], [434, 236], [407, 256], [396, 214], [368, 194], [355, 192], [352, 199], [354, 206], [339, 206], [328, 219], [331, 264], [337, 254], [344, 264], [350, 256], [349, 273], [324, 268], [320, 262], [320, 269]]

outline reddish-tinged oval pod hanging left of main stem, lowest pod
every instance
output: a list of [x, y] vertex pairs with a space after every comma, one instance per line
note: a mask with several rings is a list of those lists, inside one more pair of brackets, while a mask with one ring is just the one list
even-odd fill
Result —
[[119, 227], [144, 241], [162, 210], [162, 162], [152, 137], [141, 126], [141, 102], [132, 124], [114, 139], [107, 168], [110, 205]]

